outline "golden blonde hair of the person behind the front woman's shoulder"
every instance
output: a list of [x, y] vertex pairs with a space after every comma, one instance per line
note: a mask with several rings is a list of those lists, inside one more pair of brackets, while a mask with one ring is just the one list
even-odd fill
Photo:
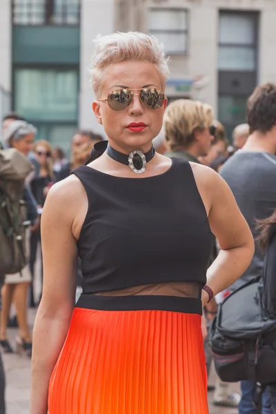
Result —
[[207, 103], [190, 99], [173, 101], [164, 114], [165, 135], [170, 149], [187, 148], [195, 139], [195, 130], [209, 128], [212, 123], [213, 110]]

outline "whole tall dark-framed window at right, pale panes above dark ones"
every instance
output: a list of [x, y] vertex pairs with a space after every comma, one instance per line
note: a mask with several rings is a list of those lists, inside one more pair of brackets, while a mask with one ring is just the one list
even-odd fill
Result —
[[230, 139], [246, 122], [246, 102], [257, 84], [258, 21], [258, 12], [219, 12], [218, 116]]

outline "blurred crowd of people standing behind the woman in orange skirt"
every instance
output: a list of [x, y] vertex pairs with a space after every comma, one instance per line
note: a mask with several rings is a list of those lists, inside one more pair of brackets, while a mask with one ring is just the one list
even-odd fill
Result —
[[[253, 115], [250, 115], [248, 124], [235, 127], [232, 137], [226, 137], [226, 130], [219, 120], [213, 120], [206, 133], [202, 133], [202, 128], [212, 112], [208, 104], [190, 99], [173, 101], [165, 113], [164, 130], [155, 139], [154, 146], [157, 152], [168, 157], [181, 157], [188, 161], [201, 163], [222, 175], [233, 190], [237, 204], [246, 217], [255, 239], [263, 232], [263, 246], [267, 246], [271, 235], [265, 237], [264, 230], [271, 233], [271, 228], [276, 225], [276, 86], [266, 84], [257, 88], [255, 94], [259, 94], [259, 97], [257, 96], [260, 100], [259, 108]], [[248, 101], [249, 107], [250, 100]], [[77, 130], [72, 137], [68, 137], [71, 139], [71, 154], [68, 159], [63, 148], [52, 148], [48, 141], [36, 140], [37, 128], [19, 114], [7, 114], [2, 120], [2, 130], [3, 147], [16, 148], [28, 158], [33, 168], [26, 179], [22, 195], [28, 206], [30, 221], [28, 228], [29, 263], [20, 275], [6, 275], [3, 278], [0, 344], [4, 353], [18, 352], [24, 357], [30, 357], [32, 355], [32, 333], [28, 324], [28, 307], [35, 308], [39, 304], [41, 295], [34, 294], [34, 278], [43, 278], [40, 235], [43, 204], [50, 187], [55, 182], [68, 177], [74, 168], [85, 164], [93, 146], [103, 137], [91, 130]], [[257, 230], [255, 219], [266, 219], [265, 223], [259, 224], [259, 230]], [[214, 240], [210, 262], [215, 259], [218, 249], [219, 246]], [[264, 251], [256, 242], [253, 263], [239, 280], [239, 284], [251, 277], [262, 275], [263, 263]], [[276, 268], [274, 271], [276, 272]], [[79, 275], [79, 286], [80, 283], [81, 275]], [[228, 293], [221, 293], [206, 307], [205, 315], [208, 324], [212, 322], [217, 313], [217, 304]], [[270, 310], [273, 309], [275, 302], [276, 295], [269, 302]], [[274, 312], [276, 314], [275, 308]], [[18, 329], [15, 344], [8, 338], [8, 326]], [[207, 339], [205, 348], [206, 366], [209, 373], [212, 354]], [[2, 388], [0, 414], [3, 414], [5, 412], [3, 373], [0, 375], [0, 385]], [[241, 395], [237, 395], [237, 393], [231, 393], [228, 384], [221, 382], [217, 377], [213, 403], [217, 406], [229, 407], [239, 405], [240, 414], [255, 414], [257, 412], [252, 402], [253, 386], [254, 384], [250, 382], [242, 382]], [[270, 407], [270, 398], [268, 389], [264, 393], [266, 408], [262, 414], [275, 413]]]

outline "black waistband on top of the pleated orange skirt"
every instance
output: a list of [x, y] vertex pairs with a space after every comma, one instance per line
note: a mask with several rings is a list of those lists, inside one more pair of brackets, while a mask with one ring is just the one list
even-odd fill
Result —
[[172, 311], [202, 315], [201, 299], [195, 297], [135, 295], [101, 296], [82, 294], [77, 308], [97, 311]]

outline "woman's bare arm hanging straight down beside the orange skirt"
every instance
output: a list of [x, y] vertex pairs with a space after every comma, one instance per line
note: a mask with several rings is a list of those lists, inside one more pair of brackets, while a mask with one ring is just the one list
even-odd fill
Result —
[[[43, 294], [34, 322], [30, 414], [48, 412], [48, 385], [75, 306], [77, 246], [83, 188], [77, 177], [53, 186], [41, 220]], [[81, 206], [81, 207], [80, 207]]]

